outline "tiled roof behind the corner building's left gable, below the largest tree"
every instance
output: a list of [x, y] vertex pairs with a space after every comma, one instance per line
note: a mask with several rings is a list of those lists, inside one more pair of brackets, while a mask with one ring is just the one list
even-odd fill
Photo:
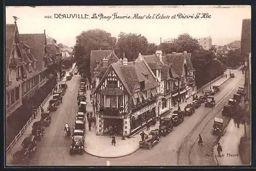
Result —
[[101, 63], [102, 59], [106, 56], [109, 56], [112, 53], [111, 50], [92, 50], [91, 51], [91, 69], [94, 70], [96, 68], [96, 62]]

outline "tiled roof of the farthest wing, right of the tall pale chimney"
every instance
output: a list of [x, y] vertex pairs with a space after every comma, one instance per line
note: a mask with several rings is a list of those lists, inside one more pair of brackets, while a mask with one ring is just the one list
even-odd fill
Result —
[[[165, 64], [171, 65], [173, 76], [178, 75], [179, 77], [181, 77], [183, 72], [184, 60], [186, 60], [186, 58], [189, 59], [190, 56], [190, 53], [166, 54], [162, 59]], [[189, 67], [188, 63], [187, 67]]]

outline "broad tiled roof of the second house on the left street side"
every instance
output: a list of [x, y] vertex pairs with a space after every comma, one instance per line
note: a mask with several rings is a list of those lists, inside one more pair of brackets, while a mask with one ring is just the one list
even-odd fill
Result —
[[37, 59], [38, 69], [44, 68], [45, 34], [20, 34], [20, 40], [31, 46], [30, 52]]

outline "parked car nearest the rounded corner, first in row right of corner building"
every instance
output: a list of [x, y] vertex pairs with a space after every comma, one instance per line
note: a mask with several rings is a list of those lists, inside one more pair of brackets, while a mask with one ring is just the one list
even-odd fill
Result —
[[159, 130], [152, 130], [148, 135], [146, 135], [144, 141], [139, 141], [140, 148], [148, 148], [152, 149], [152, 145], [155, 145], [156, 143], [160, 142], [160, 135]]

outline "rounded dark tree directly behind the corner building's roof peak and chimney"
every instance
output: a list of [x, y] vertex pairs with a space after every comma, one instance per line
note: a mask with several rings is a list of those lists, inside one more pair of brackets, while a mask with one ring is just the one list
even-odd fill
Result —
[[120, 33], [118, 36], [115, 53], [121, 57], [125, 53], [128, 61], [133, 61], [138, 54], [144, 54], [147, 50], [147, 39], [141, 34]]

